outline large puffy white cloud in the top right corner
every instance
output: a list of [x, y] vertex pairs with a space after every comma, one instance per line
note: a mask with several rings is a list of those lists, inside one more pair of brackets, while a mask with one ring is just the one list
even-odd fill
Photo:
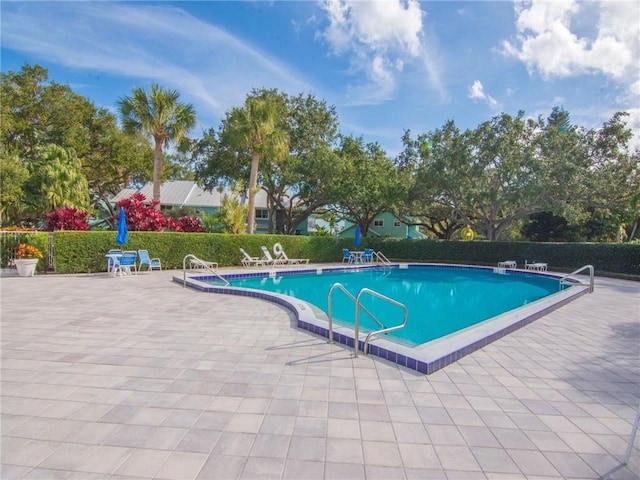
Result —
[[[591, 36], [579, 36], [572, 23], [597, 9]], [[503, 51], [544, 78], [602, 73], [627, 82], [638, 76], [640, 4], [635, 1], [578, 2], [525, 0], [515, 3], [518, 37]]]

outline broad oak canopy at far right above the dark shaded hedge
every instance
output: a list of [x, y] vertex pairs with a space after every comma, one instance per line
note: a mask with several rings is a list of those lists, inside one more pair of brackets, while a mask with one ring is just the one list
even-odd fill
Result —
[[413, 201], [404, 208], [420, 216], [428, 215], [421, 206], [437, 205], [441, 223], [470, 225], [489, 240], [543, 212], [575, 222], [594, 208], [624, 211], [639, 171], [620, 119], [585, 131], [554, 109], [546, 122], [503, 113], [465, 132], [453, 121], [416, 139], [406, 132], [399, 158], [413, 172]]

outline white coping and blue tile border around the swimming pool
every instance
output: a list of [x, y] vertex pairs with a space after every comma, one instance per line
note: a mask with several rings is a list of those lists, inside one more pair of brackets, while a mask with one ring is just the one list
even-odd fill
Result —
[[[323, 266], [323, 267], [303, 267], [292, 269], [271, 269], [260, 271], [234, 272], [225, 274], [226, 279], [237, 278], [263, 278], [274, 275], [288, 276], [308, 273], [322, 274], [325, 272], [351, 271], [365, 268], [452, 268], [452, 269], [480, 269], [489, 270], [495, 273], [505, 273], [502, 269], [486, 266], [469, 266], [457, 264], [431, 264], [431, 263], [394, 263], [388, 266], [380, 265], [358, 265], [358, 266]], [[531, 272], [529, 270], [509, 269], [508, 273], [515, 275], [540, 275], [550, 278], [560, 279], [560, 275], [548, 272]], [[173, 277], [173, 281], [179, 284], [184, 283], [183, 277]], [[195, 290], [208, 293], [221, 293], [226, 295], [240, 295], [257, 298], [273, 302], [283, 306], [294, 313], [298, 328], [307, 330], [310, 333], [329, 338], [328, 322], [325, 318], [318, 317], [317, 308], [311, 304], [287, 295], [282, 295], [263, 290], [250, 288], [227, 287], [220, 282], [220, 285], [206, 283], [219, 281], [214, 275], [196, 274], [186, 278], [186, 286]], [[525, 307], [512, 310], [498, 317], [485, 320], [480, 324], [466, 328], [460, 332], [452, 333], [440, 339], [436, 339], [418, 346], [407, 346], [386, 339], [376, 338], [369, 344], [368, 354], [393, 362], [402, 367], [416, 371], [421, 374], [431, 374], [441, 368], [460, 360], [462, 357], [489, 345], [490, 343], [518, 330], [531, 322], [547, 315], [551, 311], [560, 308], [562, 305], [575, 300], [589, 291], [586, 285], [576, 285], [569, 289], [564, 289], [556, 294], [545, 297], [537, 302], [533, 302]], [[493, 324], [492, 324], [493, 323]], [[482, 326], [482, 329], [479, 327]], [[480, 333], [478, 335], [477, 333]], [[354, 330], [344, 326], [334, 325], [333, 341], [354, 347]], [[364, 341], [358, 341], [359, 350], [362, 352]], [[362, 354], [362, 353], [361, 353]]]

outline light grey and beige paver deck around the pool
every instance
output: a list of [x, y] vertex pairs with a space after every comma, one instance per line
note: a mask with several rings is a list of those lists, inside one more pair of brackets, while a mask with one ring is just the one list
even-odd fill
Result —
[[425, 376], [176, 273], [0, 278], [0, 478], [640, 478], [640, 282]]

